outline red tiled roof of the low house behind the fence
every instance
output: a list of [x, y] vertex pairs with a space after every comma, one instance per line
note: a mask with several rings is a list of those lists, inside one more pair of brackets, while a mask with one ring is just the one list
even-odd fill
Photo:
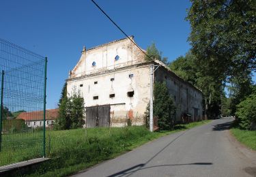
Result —
[[[59, 109], [46, 110], [45, 119], [55, 120], [58, 116]], [[34, 111], [34, 112], [21, 112], [18, 117], [23, 120], [43, 120], [44, 111]]]

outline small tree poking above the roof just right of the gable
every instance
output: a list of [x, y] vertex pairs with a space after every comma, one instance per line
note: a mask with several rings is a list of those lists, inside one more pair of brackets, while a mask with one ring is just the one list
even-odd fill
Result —
[[146, 61], [152, 61], [152, 60], [159, 60], [162, 61], [162, 63], [165, 63], [166, 65], [168, 65], [168, 58], [167, 57], [162, 57], [162, 52], [160, 52], [157, 48], [156, 48], [156, 44], [152, 43], [150, 46], [147, 47], [147, 56], [145, 56], [145, 60]]

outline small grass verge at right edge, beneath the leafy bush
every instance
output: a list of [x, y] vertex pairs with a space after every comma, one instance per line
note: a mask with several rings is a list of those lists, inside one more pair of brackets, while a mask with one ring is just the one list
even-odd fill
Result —
[[230, 130], [239, 142], [248, 148], [256, 150], [256, 131], [241, 130], [233, 128]]

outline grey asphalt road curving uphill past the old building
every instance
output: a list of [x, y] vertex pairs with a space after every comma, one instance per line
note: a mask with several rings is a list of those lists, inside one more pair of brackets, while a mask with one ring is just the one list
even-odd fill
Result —
[[232, 140], [233, 119], [149, 142], [75, 176], [256, 176], [256, 155]]

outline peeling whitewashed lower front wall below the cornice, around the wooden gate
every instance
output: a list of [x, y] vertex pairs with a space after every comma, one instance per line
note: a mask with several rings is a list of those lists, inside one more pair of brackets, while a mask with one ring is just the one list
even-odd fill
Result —
[[[129, 78], [130, 74], [133, 74], [132, 78]], [[111, 78], [115, 80], [111, 81]], [[111, 106], [113, 127], [123, 126], [126, 123], [129, 110], [133, 112], [132, 116], [130, 115], [132, 123], [142, 125], [143, 115], [150, 100], [150, 67], [144, 65], [111, 74], [68, 81], [68, 94], [72, 95], [74, 88], [79, 89], [83, 94], [85, 107], [125, 103]], [[131, 90], [134, 91], [134, 96], [128, 97], [127, 92]], [[110, 98], [110, 94], [115, 94], [115, 97]], [[98, 99], [94, 99], [95, 96], [98, 96]]]

